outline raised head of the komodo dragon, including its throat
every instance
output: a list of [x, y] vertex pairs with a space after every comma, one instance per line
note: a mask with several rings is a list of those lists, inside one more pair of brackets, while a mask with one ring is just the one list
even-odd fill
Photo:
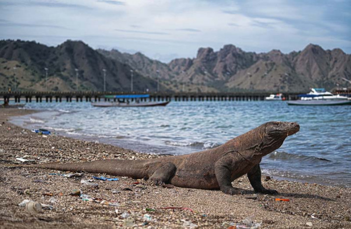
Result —
[[263, 146], [261, 149], [262, 156], [278, 149], [286, 137], [300, 130], [298, 123], [293, 122], [268, 122], [262, 126], [264, 127], [261, 143], [261, 146]]

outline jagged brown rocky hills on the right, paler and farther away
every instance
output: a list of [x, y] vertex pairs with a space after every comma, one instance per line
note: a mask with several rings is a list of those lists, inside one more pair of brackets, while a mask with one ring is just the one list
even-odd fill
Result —
[[301, 92], [310, 87], [330, 90], [337, 85], [350, 86], [341, 78], [351, 78], [350, 54], [340, 49], [324, 51], [312, 44], [303, 51], [288, 54], [279, 50], [245, 52], [234, 45], [225, 45], [219, 51], [200, 48], [195, 58], [174, 59], [168, 64], [141, 53], [100, 52], [130, 64], [144, 75], [160, 76], [173, 83], [202, 85], [214, 91]]

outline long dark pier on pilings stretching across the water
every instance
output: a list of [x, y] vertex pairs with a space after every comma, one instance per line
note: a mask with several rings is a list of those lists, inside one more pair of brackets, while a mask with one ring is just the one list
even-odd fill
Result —
[[[154, 92], [154, 93], [130, 93], [130, 92], [0, 92], [0, 98], [9, 102], [14, 99], [19, 102], [100, 102], [115, 101], [113, 98], [105, 98], [106, 95], [126, 94], [149, 94], [149, 98], [142, 101], [263, 101], [270, 96], [270, 92], [229, 92], [229, 93], [194, 93], [194, 92]], [[301, 93], [283, 94], [286, 100], [296, 100]]]

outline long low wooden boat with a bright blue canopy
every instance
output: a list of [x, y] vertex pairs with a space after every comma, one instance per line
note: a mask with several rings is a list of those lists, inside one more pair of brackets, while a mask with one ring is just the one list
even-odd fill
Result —
[[[140, 99], [149, 98], [150, 95], [117, 95], [117, 96], [105, 96], [108, 99], [117, 99], [117, 102], [92, 102], [91, 105], [97, 107], [138, 107], [138, 106], [165, 106], [170, 101], [166, 102], [142, 102]], [[134, 100], [130, 102], [129, 100]]]

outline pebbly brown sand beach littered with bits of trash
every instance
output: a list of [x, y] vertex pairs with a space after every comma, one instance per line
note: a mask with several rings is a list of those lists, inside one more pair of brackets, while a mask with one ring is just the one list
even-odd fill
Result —
[[[8, 122], [11, 116], [30, 112], [35, 111], [0, 108], [0, 228], [228, 228], [243, 224], [250, 216], [261, 228], [351, 228], [350, 188], [263, 176], [263, 185], [276, 189], [278, 195], [229, 196], [216, 190], [154, 186], [132, 178], [93, 180], [99, 188], [91, 189], [84, 187], [81, 179], [110, 176], [84, 173], [81, 178], [66, 178], [50, 175], [66, 172], [8, 166], [157, 157], [54, 134], [40, 135]], [[253, 191], [246, 176], [235, 180], [233, 186]], [[95, 201], [69, 195], [74, 190]], [[50, 204], [53, 209], [30, 213], [18, 205], [25, 199]]]

